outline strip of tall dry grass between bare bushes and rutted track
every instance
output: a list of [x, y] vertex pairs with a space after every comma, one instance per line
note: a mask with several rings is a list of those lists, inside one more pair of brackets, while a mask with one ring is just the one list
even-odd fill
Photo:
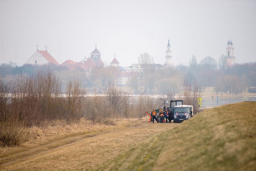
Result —
[[42, 127], [33, 126], [26, 128], [28, 139], [18, 147], [0, 147], [0, 157], [7, 156], [20, 151], [26, 151], [30, 148], [54, 142], [55, 140], [72, 137], [84, 132], [90, 132], [105, 128], [113, 127], [112, 125], [94, 123], [81, 118], [76, 123], [66, 124], [65, 120], [51, 121]]

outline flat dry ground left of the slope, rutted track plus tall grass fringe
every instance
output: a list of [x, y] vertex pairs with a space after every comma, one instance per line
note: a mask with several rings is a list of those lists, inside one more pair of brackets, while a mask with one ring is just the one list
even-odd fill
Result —
[[123, 151], [179, 126], [147, 120], [117, 120], [114, 126], [49, 126], [45, 131], [33, 128], [40, 135], [34, 142], [0, 148], [0, 170], [94, 170]]

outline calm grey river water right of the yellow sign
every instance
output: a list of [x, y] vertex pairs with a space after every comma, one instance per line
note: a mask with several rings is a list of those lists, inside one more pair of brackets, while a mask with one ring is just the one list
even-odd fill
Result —
[[256, 101], [256, 96], [240, 96], [240, 97], [221, 97], [214, 96], [214, 97], [202, 97], [202, 106], [221, 106], [230, 103], [237, 103], [243, 101]]

